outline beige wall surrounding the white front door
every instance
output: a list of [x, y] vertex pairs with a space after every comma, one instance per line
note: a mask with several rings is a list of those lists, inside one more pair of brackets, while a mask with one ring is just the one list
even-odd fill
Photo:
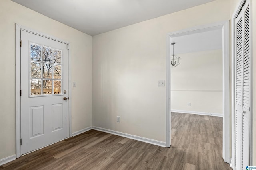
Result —
[[92, 125], [92, 37], [10, 0], [0, 0], [0, 160], [16, 154], [15, 23], [71, 43], [72, 132]]

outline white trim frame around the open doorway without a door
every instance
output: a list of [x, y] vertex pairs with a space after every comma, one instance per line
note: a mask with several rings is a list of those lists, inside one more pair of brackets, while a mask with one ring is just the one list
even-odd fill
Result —
[[170, 39], [174, 36], [188, 35], [212, 29], [222, 29], [222, 61], [223, 61], [223, 147], [222, 157], [230, 163], [230, 62], [229, 62], [229, 21], [202, 25], [167, 34], [166, 43], [166, 147], [171, 145], [170, 115]]

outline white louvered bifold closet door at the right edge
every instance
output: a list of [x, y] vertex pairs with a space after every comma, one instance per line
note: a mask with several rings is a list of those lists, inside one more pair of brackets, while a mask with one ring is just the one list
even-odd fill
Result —
[[235, 75], [235, 169], [249, 166], [251, 56], [250, 8], [248, 1], [236, 18], [236, 75]]

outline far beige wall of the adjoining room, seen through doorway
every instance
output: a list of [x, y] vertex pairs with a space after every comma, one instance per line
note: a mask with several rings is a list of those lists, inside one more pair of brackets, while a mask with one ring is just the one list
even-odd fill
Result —
[[222, 114], [222, 49], [178, 56], [182, 63], [170, 70], [172, 110]]

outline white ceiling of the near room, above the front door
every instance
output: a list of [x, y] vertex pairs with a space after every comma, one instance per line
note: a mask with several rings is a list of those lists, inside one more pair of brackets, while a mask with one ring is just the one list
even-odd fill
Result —
[[93, 36], [214, 0], [12, 1]]

